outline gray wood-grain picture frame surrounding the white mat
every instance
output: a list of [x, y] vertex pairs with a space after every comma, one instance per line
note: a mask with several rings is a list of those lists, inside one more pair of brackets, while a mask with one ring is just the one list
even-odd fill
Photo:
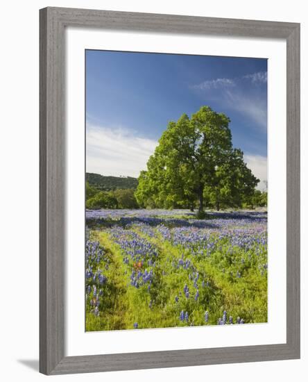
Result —
[[[286, 40], [286, 344], [65, 356], [67, 26]], [[300, 24], [109, 10], [40, 10], [40, 372], [104, 372], [293, 358], [300, 358]]]

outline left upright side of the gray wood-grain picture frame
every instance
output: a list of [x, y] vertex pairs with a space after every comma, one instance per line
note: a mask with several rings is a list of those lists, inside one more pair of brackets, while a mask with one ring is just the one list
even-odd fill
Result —
[[64, 357], [64, 27], [40, 11], [40, 371]]

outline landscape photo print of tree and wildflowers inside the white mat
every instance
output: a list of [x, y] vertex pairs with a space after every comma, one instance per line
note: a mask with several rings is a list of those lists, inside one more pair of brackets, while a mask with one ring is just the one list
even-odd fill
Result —
[[267, 322], [267, 81], [85, 51], [85, 331]]

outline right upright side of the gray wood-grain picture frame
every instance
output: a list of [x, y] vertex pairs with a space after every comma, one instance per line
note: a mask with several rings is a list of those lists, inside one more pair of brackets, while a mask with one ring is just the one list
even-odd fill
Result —
[[286, 39], [286, 341], [300, 358], [300, 26]]

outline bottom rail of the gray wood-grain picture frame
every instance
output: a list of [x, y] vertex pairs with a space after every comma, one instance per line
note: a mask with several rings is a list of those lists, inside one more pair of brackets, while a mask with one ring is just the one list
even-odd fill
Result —
[[150, 351], [144, 353], [66, 357], [55, 367], [51, 374], [157, 369], [162, 367], [244, 363], [293, 358], [298, 357], [294, 355], [293, 349], [291, 349], [288, 344]]

